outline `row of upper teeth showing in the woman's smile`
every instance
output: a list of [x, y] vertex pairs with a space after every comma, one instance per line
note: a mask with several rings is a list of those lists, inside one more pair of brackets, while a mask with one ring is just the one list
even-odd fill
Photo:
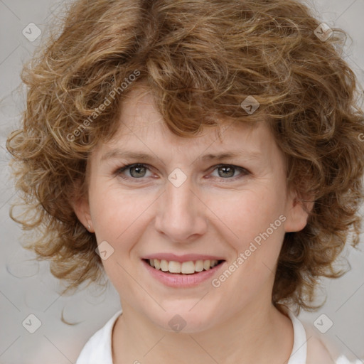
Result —
[[196, 260], [196, 262], [190, 260], [188, 262], [180, 263], [173, 260], [168, 262], [168, 260], [165, 259], [148, 259], [148, 262], [151, 267], [154, 267], [157, 270], [161, 269], [163, 272], [182, 274], [193, 274], [195, 272], [202, 272], [203, 269], [208, 270], [218, 264], [217, 260]]

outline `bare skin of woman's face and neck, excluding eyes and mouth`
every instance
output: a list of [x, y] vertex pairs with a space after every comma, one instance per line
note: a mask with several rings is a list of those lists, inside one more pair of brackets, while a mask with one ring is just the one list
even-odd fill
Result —
[[[293, 328], [271, 303], [274, 271], [285, 232], [303, 229], [308, 216], [287, 191], [282, 152], [264, 122], [251, 128], [223, 120], [221, 140], [214, 129], [178, 137], [141, 90], [124, 101], [112, 141], [92, 151], [88, 193], [74, 206], [98, 244], [106, 240], [114, 248], [102, 261], [123, 309], [112, 335], [114, 363], [284, 363]], [[117, 148], [154, 159], [102, 160]], [[199, 159], [225, 151], [239, 156]], [[116, 172], [137, 163], [148, 166], [141, 178], [132, 168]], [[249, 172], [236, 168], [227, 176], [218, 164]], [[178, 188], [168, 181], [175, 168], [187, 176]], [[166, 287], [141, 263], [156, 252], [196, 253], [223, 257], [228, 267], [280, 215], [282, 225], [218, 288], [211, 279], [193, 288]], [[168, 326], [176, 314], [186, 321], [178, 333]]]

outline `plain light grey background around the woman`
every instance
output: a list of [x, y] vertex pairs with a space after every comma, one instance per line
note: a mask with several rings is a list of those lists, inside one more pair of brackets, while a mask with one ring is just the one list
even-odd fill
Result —
[[[319, 19], [350, 34], [353, 42], [348, 41], [344, 58], [363, 87], [364, 0], [310, 1]], [[60, 284], [51, 276], [48, 263], [28, 260], [33, 255], [19, 245], [21, 228], [9, 218], [9, 203], [16, 195], [9, 180], [5, 141], [20, 119], [25, 100], [23, 93], [14, 90], [20, 84], [22, 63], [42, 42], [46, 27], [52, 25], [53, 16], [64, 4], [53, 0], [0, 0], [0, 363], [75, 363], [87, 338], [120, 308], [117, 292], [110, 284], [105, 294], [91, 286], [74, 296], [60, 296]], [[31, 22], [43, 31], [33, 42], [22, 33]], [[341, 353], [364, 363], [363, 235], [361, 241], [361, 251], [348, 248], [344, 254], [350, 260], [351, 271], [341, 279], [323, 280], [322, 294], [327, 294], [323, 308], [303, 312], [299, 318]], [[41, 321], [35, 333], [29, 333], [22, 324], [24, 320], [29, 322], [30, 314]], [[326, 315], [319, 320], [324, 326], [330, 322], [328, 319], [333, 322], [326, 333], [314, 326], [321, 314]], [[61, 316], [75, 324], [63, 323]], [[36, 319], [31, 322], [34, 325]]]

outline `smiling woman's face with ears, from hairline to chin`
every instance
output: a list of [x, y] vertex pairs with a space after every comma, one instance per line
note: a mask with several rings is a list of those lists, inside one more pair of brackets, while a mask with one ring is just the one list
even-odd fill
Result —
[[151, 95], [130, 95], [119, 131], [92, 152], [88, 201], [75, 207], [124, 312], [198, 332], [271, 305], [284, 233], [304, 228], [307, 215], [286, 190], [267, 126], [223, 122], [221, 139], [214, 129], [183, 139]]

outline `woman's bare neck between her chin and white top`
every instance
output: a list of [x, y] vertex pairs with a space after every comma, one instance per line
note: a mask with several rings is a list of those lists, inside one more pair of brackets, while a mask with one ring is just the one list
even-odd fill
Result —
[[293, 327], [272, 304], [250, 304], [228, 321], [194, 333], [170, 332], [132, 306], [114, 326], [113, 363], [287, 363]]

